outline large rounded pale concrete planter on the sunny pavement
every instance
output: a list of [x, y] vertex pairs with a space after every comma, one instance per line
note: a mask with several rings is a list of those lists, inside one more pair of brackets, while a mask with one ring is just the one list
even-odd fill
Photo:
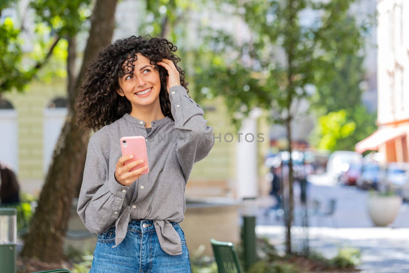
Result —
[[369, 196], [366, 202], [369, 216], [375, 226], [384, 227], [393, 223], [398, 215], [401, 196]]

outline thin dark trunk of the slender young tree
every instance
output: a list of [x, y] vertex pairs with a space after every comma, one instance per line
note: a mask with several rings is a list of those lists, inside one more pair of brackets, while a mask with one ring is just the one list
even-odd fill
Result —
[[288, 162], [288, 207], [287, 207], [287, 212], [288, 215], [285, 217], [286, 219], [286, 240], [285, 240], [285, 252], [287, 254], [291, 254], [291, 226], [292, 226], [292, 212], [293, 212], [293, 206], [294, 206], [294, 198], [293, 198], [293, 188], [292, 188], [292, 157], [291, 157], [291, 119], [288, 118], [288, 120], [285, 122], [285, 125], [287, 126], [287, 141], [288, 141], [288, 152], [290, 153], [290, 160]]

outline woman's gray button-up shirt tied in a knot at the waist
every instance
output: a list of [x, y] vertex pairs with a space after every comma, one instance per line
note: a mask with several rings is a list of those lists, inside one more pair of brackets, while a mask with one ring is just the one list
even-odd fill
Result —
[[[169, 222], [181, 222], [186, 208], [184, 191], [193, 164], [205, 158], [214, 145], [213, 127], [203, 109], [187, 96], [183, 86], [172, 86], [170, 117], [145, 122], [125, 114], [95, 132], [88, 144], [77, 213], [90, 232], [115, 226], [115, 246], [125, 238], [131, 219], [153, 220], [161, 248], [182, 254], [178, 232]], [[120, 138], [142, 135], [146, 139], [149, 173], [129, 186], [115, 180], [121, 155]]]

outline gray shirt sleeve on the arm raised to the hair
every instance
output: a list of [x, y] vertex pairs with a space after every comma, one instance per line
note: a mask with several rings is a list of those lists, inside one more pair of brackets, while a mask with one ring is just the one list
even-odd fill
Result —
[[187, 183], [193, 164], [205, 158], [214, 145], [213, 127], [207, 126], [205, 112], [187, 96], [183, 86], [172, 86], [169, 100], [178, 130], [176, 153]]

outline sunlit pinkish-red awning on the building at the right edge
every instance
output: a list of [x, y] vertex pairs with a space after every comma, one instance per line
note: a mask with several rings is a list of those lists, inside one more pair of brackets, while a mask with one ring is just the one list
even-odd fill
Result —
[[364, 151], [371, 150], [376, 151], [380, 144], [398, 138], [401, 135], [405, 135], [408, 132], [408, 128], [405, 127], [389, 127], [378, 129], [375, 133], [358, 142], [355, 145], [355, 151], [363, 153]]

